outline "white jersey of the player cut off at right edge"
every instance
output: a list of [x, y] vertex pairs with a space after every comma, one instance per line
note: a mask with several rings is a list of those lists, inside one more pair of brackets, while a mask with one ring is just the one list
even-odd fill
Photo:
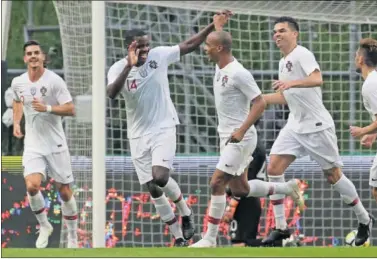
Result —
[[377, 71], [369, 73], [362, 87], [362, 95], [365, 109], [369, 112], [372, 121], [377, 115]]

